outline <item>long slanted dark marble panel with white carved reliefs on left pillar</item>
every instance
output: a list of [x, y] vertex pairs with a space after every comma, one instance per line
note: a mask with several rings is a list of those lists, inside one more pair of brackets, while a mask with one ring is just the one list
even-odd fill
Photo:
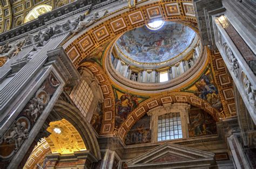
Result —
[[49, 103], [53, 94], [60, 85], [59, 80], [51, 72], [36, 93], [25, 104], [21, 112], [17, 114], [15, 121], [0, 138], [0, 166], [8, 166], [22, 144], [29, 138], [29, 133], [36, 125], [39, 117]]

